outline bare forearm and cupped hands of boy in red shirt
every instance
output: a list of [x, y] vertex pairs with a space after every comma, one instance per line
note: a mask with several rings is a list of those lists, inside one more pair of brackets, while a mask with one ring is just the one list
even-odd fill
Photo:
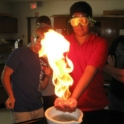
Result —
[[62, 98], [57, 98], [54, 102], [54, 106], [56, 109], [61, 111], [69, 111], [73, 112], [77, 108], [77, 100], [80, 98], [80, 96], [84, 93], [84, 91], [87, 89], [87, 87], [92, 82], [93, 78], [97, 74], [98, 69], [94, 66], [87, 66], [85, 69], [85, 72], [81, 76], [79, 82], [77, 83], [77, 86], [75, 87], [72, 96], [64, 101]]

